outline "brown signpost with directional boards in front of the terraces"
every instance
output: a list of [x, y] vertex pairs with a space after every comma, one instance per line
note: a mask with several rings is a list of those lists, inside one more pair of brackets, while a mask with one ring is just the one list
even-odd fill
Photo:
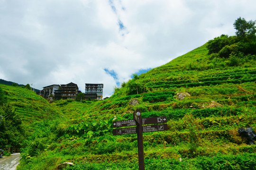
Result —
[[[126, 128], [113, 129], [114, 136], [137, 133], [139, 170], [145, 170], [143, 133], [168, 130], [167, 124], [158, 124], [158, 123], [166, 123], [166, 122], [167, 122], [166, 116], [142, 119], [141, 110], [136, 110], [136, 112], [133, 113], [132, 120], [121, 120], [121, 121], [113, 122], [113, 127], [126, 127]], [[146, 124], [157, 124], [157, 125], [146, 125]], [[146, 126], [142, 126], [142, 125], [146, 125]], [[136, 126], [136, 127], [128, 127], [128, 126]]]

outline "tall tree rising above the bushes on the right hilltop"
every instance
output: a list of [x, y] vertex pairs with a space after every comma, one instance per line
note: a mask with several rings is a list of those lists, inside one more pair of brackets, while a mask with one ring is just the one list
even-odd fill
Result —
[[239, 17], [237, 20], [234, 22], [234, 27], [237, 30], [236, 35], [238, 37], [246, 37], [246, 36], [254, 36], [256, 34], [256, 26], [255, 26], [256, 21], [246, 21], [245, 18]]

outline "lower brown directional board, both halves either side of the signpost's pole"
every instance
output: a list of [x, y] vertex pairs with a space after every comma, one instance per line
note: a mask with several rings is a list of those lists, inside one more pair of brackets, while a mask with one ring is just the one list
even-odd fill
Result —
[[[144, 132], [155, 132], [155, 131], [164, 131], [168, 130], [167, 124], [160, 124], [160, 125], [146, 125], [142, 127], [143, 133]], [[127, 128], [119, 128], [113, 129], [113, 135], [128, 135], [128, 134], [136, 134], [137, 130], [136, 127], [127, 127]]]

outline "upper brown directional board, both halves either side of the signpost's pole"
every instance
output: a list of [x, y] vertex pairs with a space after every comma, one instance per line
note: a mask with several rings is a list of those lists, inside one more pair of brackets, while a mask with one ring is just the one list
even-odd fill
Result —
[[[143, 125], [155, 124], [155, 123], [166, 123], [166, 122], [167, 122], [166, 116], [142, 119]], [[136, 121], [135, 120], [113, 121], [113, 127], [126, 127], [126, 126], [136, 126]]]

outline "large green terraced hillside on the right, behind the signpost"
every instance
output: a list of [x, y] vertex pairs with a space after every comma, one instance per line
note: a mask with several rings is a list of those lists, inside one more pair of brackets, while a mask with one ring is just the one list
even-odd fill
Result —
[[[71, 123], [67, 134], [80, 137], [69, 143], [77, 147], [66, 161], [78, 169], [136, 170], [137, 136], [116, 136], [112, 141], [108, 121], [133, 119], [133, 111], [140, 109], [143, 118], [168, 119], [168, 131], [143, 135], [146, 170], [255, 168], [256, 147], [247, 145], [237, 130], [256, 128], [256, 67], [214, 64], [203, 45], [128, 81]], [[178, 93], [189, 95], [181, 100]], [[138, 104], [130, 105], [134, 99]]]

